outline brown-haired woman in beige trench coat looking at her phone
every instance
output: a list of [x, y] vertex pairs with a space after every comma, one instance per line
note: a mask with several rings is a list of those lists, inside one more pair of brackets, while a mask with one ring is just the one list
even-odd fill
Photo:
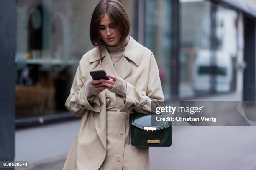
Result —
[[[130, 23], [120, 2], [95, 7], [90, 38], [95, 46], [79, 62], [65, 103], [81, 124], [64, 170], [150, 170], [148, 147], [130, 143], [129, 115], [151, 111], [164, 100], [154, 55], [129, 36]], [[105, 70], [110, 80], [92, 80]]]

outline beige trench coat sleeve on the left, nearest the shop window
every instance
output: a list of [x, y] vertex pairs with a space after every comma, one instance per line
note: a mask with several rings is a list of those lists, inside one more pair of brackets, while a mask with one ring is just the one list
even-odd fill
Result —
[[[82, 81], [82, 70], [79, 62], [70, 95], [65, 102], [67, 109], [77, 117], [81, 117], [87, 110], [100, 112], [100, 101], [97, 96], [100, 91], [91, 86], [90, 80], [87, 80], [85, 83]], [[93, 87], [95, 89], [92, 89]], [[87, 89], [93, 91], [89, 92]]]

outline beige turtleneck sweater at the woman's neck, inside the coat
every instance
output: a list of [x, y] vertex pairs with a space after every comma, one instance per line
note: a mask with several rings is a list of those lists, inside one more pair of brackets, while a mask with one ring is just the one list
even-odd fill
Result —
[[123, 57], [123, 50], [125, 49], [126, 45], [128, 44], [130, 40], [130, 36], [127, 36], [127, 38], [125, 39], [125, 42], [123, 43], [123, 49], [121, 47], [121, 43], [118, 42], [117, 45], [115, 46], [109, 46], [106, 45], [108, 53], [110, 55], [110, 58], [113, 62], [113, 65], [115, 66], [115, 63], [121, 59], [121, 57]]

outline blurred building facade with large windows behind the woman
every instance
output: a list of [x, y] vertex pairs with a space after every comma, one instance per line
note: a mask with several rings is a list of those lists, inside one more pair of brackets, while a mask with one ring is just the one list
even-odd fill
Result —
[[[69, 114], [64, 103], [79, 60], [93, 48], [89, 27], [98, 2], [16, 1], [16, 123]], [[246, 31], [254, 24], [255, 40], [256, 2], [120, 2], [131, 19], [130, 35], [156, 57], [165, 100], [218, 95], [255, 100], [255, 69], [246, 67], [255, 67], [255, 42], [252, 47]]]

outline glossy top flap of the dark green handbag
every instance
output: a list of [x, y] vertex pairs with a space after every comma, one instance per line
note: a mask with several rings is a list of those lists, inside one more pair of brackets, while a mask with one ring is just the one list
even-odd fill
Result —
[[[157, 115], [161, 117], [167, 117], [167, 115]], [[154, 118], [152, 116], [152, 118]], [[159, 125], [151, 125], [151, 114], [133, 113], [131, 114], [131, 125], [143, 130], [161, 130], [169, 127], [169, 121], [159, 121]], [[146, 128], [144, 128], [146, 127]]]

